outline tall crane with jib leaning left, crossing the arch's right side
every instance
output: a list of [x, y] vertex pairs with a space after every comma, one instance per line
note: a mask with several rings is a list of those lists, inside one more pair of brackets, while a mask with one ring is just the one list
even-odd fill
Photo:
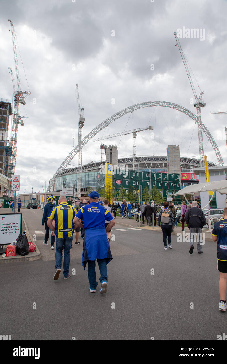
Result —
[[204, 92], [201, 92], [199, 97], [197, 97], [195, 87], [193, 85], [192, 78], [191, 78], [191, 75], [190, 75], [189, 70], [188, 70], [187, 62], [185, 60], [184, 52], [183, 52], [183, 50], [181, 48], [179, 39], [177, 37], [177, 33], [175, 32], [173, 34], [175, 35], [177, 46], [179, 48], [181, 58], [182, 58], [182, 60], [184, 62], [184, 67], [185, 67], [185, 70], [187, 72], [188, 79], [189, 79], [189, 82], [191, 84], [191, 88], [192, 88], [192, 91], [193, 91], [193, 94], [194, 94], [195, 100], [196, 100], [196, 103], [194, 104], [194, 107], [196, 107], [197, 120], [198, 120], [197, 124], [198, 124], [198, 135], [199, 135], [199, 158], [200, 158], [200, 167], [203, 167], [204, 166], [204, 149], [203, 149], [203, 130], [202, 130], [202, 120], [201, 120], [201, 110], [200, 110], [200, 108], [206, 106], [206, 103], [202, 102]]

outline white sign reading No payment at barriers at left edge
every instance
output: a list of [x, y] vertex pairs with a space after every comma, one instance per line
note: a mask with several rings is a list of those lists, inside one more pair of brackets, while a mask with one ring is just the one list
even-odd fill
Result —
[[22, 229], [22, 214], [0, 214], [0, 245], [11, 244]]

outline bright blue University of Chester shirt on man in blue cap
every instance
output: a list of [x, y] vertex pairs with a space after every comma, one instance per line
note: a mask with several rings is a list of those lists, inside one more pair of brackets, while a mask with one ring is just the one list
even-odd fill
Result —
[[113, 220], [113, 216], [104, 207], [99, 205], [98, 202], [91, 202], [89, 205], [81, 207], [78, 211], [78, 219], [83, 221], [83, 229], [92, 229], [93, 227], [105, 226], [105, 220]]

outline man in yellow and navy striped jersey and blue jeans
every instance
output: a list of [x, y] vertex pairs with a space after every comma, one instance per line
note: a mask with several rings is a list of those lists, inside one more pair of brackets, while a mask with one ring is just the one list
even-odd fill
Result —
[[[70, 249], [73, 241], [74, 223], [73, 219], [77, 214], [77, 210], [74, 206], [70, 206], [67, 203], [65, 196], [60, 196], [58, 200], [58, 206], [52, 209], [48, 215], [47, 226], [52, 231], [55, 231], [56, 235], [56, 252], [55, 252], [55, 274], [54, 280], [58, 280], [62, 267], [62, 249], [64, 245], [64, 279], [70, 277], [69, 265], [70, 265]], [[55, 220], [55, 226], [52, 221]]]

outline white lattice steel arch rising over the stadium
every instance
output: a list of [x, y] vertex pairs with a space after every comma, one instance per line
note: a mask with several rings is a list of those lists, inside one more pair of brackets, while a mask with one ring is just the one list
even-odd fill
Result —
[[[122, 109], [121, 111], [116, 112], [116, 114], [111, 115], [108, 119], [104, 120], [102, 123], [100, 123], [98, 126], [96, 126], [93, 130], [91, 130], [86, 137], [82, 139], [81, 147], [85, 146], [96, 134], [98, 134], [99, 131], [101, 131], [103, 128], [108, 126], [109, 124], [113, 123], [115, 120], [121, 118], [121, 116], [124, 116], [128, 114], [129, 112], [133, 112], [135, 110], [144, 108], [144, 107], [153, 107], [153, 106], [161, 106], [161, 107], [169, 107], [178, 111], [183, 112], [183, 114], [188, 115], [189, 118], [194, 120], [196, 123], [198, 123], [197, 116], [193, 114], [190, 110], [186, 109], [183, 106], [180, 106], [178, 104], [174, 104], [172, 102], [167, 101], [146, 101], [141, 102], [138, 104], [134, 104], [132, 106], [129, 106], [125, 109]], [[202, 123], [202, 130], [206, 134], [208, 140], [210, 141], [214, 152], [216, 154], [217, 160], [219, 165], [224, 166], [224, 162], [222, 159], [222, 156], [220, 154], [218, 145], [216, 144], [214, 138], [212, 137], [210, 131], [207, 129], [207, 127]], [[78, 147], [79, 145], [75, 146], [73, 150], [69, 153], [69, 155], [64, 159], [64, 161], [59, 166], [58, 170], [55, 172], [54, 176], [51, 178], [49, 182], [49, 186], [47, 189], [47, 192], [50, 192], [51, 187], [54, 185], [54, 182], [56, 179], [60, 176], [60, 174], [66, 169], [67, 165], [71, 162], [71, 160], [77, 155], [78, 153]]]

